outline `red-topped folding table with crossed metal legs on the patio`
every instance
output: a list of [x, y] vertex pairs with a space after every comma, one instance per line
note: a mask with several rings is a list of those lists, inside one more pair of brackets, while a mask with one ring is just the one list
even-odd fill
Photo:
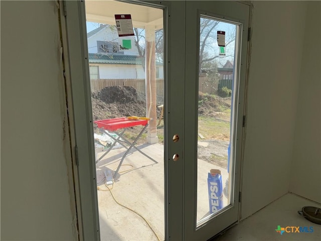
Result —
[[[116, 143], [119, 143], [121, 146], [123, 146], [124, 148], [127, 149], [127, 151], [125, 152], [125, 154], [122, 156], [120, 163], [116, 169], [116, 172], [114, 173], [114, 177], [116, 177], [119, 168], [123, 162], [123, 160], [125, 159], [125, 157], [128, 155], [129, 151], [132, 148], [135, 148], [138, 152], [140, 152], [142, 155], [144, 155], [145, 157], [149, 158], [150, 160], [152, 160], [154, 163], [158, 163], [156, 162], [154, 159], [152, 159], [151, 157], [149, 157], [148, 155], [146, 155], [145, 153], [143, 153], [141, 150], [139, 150], [135, 144], [137, 142], [137, 140], [140, 138], [141, 134], [143, 134], [143, 132], [146, 130], [147, 126], [148, 126], [148, 120], [149, 118], [143, 118], [140, 119], [139, 117], [135, 117], [135, 118], [130, 118], [130, 117], [121, 117], [121, 118], [113, 118], [113, 119], [103, 119], [101, 121], [94, 121], [94, 123], [97, 124], [99, 129], [102, 129], [104, 131], [104, 133], [106, 133], [107, 136], [109, 136], [111, 139], [114, 140], [114, 143], [109, 147], [109, 149], [107, 150], [106, 153], [104, 153], [104, 155], [102, 155], [100, 158], [98, 158], [96, 160], [96, 163], [99, 162], [104, 156], [106, 156], [110, 150], [116, 145]], [[125, 133], [125, 131], [130, 128], [130, 127], [135, 127], [135, 126], [143, 126], [142, 130], [140, 131], [140, 133], [137, 135], [137, 137], [135, 138], [135, 140], [133, 142], [128, 141], [123, 134]], [[122, 129], [121, 132], [118, 132], [118, 129]], [[114, 138], [110, 133], [114, 133], [117, 135], [117, 138]], [[121, 142], [120, 138], [127, 144], [129, 145], [129, 147], [127, 147], [123, 142]]]

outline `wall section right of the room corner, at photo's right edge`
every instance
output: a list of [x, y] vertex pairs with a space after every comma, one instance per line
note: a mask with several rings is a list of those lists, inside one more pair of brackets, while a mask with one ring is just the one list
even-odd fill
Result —
[[304, 32], [290, 191], [321, 203], [321, 4], [309, 2]]

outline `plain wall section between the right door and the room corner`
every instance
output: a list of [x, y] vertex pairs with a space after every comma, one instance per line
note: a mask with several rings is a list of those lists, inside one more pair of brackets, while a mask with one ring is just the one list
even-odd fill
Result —
[[288, 192], [306, 3], [254, 1], [241, 218]]

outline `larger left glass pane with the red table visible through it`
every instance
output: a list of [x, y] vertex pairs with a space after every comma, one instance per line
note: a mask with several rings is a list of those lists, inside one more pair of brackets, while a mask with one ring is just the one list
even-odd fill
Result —
[[86, 1], [86, 19], [100, 238], [164, 240], [163, 10]]

